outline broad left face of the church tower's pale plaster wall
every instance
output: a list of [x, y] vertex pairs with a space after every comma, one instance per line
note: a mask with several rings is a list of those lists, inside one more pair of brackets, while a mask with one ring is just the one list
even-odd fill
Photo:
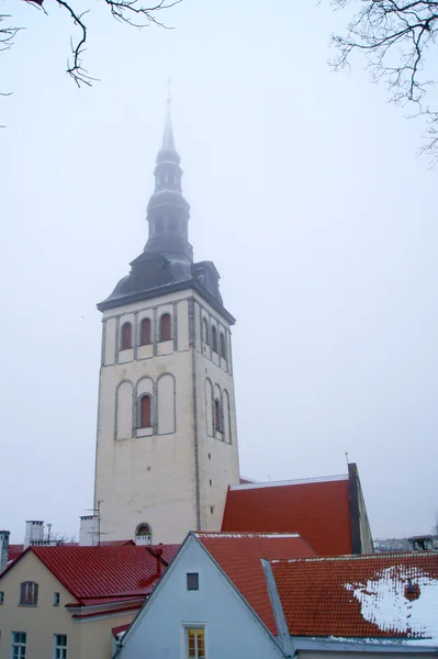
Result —
[[[138, 323], [142, 314], [149, 313], [158, 324], [162, 313], [172, 315], [173, 300], [181, 303], [178, 342], [180, 344], [181, 331], [184, 349], [175, 351], [173, 340], [161, 342], [156, 349], [158, 353], [158, 348], [165, 346], [162, 355], [101, 370], [96, 500], [102, 501], [101, 530], [108, 534], [105, 539], [134, 538], [137, 525], [146, 522], [151, 527], [154, 543], [180, 543], [187, 532], [196, 526], [192, 364], [191, 351], [187, 349], [189, 328], [183, 328], [184, 319], [188, 323], [188, 304], [177, 293], [145, 301], [143, 310], [142, 303], [137, 303], [131, 312], [138, 312]], [[121, 315], [122, 310], [111, 311]], [[124, 315], [128, 314], [121, 315], [120, 325]], [[138, 325], [135, 336], [138, 336], [137, 331]], [[147, 347], [154, 349], [154, 346]], [[170, 376], [160, 377], [164, 373], [175, 376], [175, 395], [173, 380]], [[148, 379], [142, 379], [145, 377]], [[114, 442], [115, 390], [123, 379], [130, 379], [134, 386], [138, 383], [137, 394], [153, 393], [151, 382], [156, 383], [159, 390], [158, 404], [153, 399], [156, 425], [155, 431], [137, 431], [132, 438]], [[172, 398], [177, 405], [173, 411]], [[170, 434], [151, 435], [157, 431], [157, 421], [159, 432]]]

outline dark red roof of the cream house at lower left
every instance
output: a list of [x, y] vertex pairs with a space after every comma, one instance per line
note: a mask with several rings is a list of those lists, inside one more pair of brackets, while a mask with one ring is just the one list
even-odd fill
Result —
[[29, 547], [27, 551], [35, 554], [83, 604], [145, 596], [158, 579], [157, 559], [145, 547], [132, 544], [106, 547]]

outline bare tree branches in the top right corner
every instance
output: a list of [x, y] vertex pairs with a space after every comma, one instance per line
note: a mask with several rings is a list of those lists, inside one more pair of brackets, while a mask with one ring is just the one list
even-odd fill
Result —
[[336, 9], [358, 5], [346, 34], [332, 36], [337, 49], [334, 69], [349, 66], [352, 53], [364, 54], [371, 79], [386, 85], [390, 100], [415, 105], [415, 114], [427, 116], [426, 144], [420, 150], [437, 164], [438, 113], [425, 109], [424, 100], [434, 83], [425, 76], [425, 57], [438, 34], [438, 1], [332, 0], [332, 4]]

